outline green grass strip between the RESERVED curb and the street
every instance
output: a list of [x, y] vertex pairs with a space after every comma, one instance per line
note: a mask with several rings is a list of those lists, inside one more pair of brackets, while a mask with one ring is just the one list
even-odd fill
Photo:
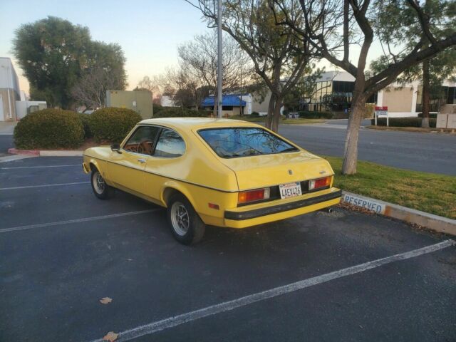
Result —
[[456, 177], [363, 161], [356, 175], [342, 175], [342, 158], [325, 159], [336, 172], [334, 186], [342, 190], [456, 219]]

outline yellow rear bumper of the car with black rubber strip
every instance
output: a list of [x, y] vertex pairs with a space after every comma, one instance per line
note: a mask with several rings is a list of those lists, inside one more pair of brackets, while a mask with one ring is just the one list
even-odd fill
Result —
[[333, 187], [318, 193], [300, 196], [299, 199], [262, 203], [261, 206], [257, 205], [249, 209], [239, 207], [224, 212], [224, 225], [232, 228], [244, 228], [286, 219], [336, 205], [341, 201], [341, 196], [341, 190]]

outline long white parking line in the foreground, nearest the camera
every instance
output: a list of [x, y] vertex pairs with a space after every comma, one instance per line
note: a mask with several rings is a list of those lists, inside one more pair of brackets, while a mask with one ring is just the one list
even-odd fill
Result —
[[[415, 249], [410, 252], [405, 252], [401, 254], [395, 254], [391, 257], [386, 257], [383, 259], [377, 259], [374, 261], [368, 261], [365, 264], [360, 264], [356, 266], [351, 266], [346, 269], [341, 269], [339, 271], [333, 271], [331, 273], [322, 274], [321, 276], [315, 276], [314, 278], [309, 278], [302, 281], [297, 281], [296, 283], [291, 283], [284, 286], [279, 286], [274, 289], [266, 290], [259, 292], [257, 294], [250, 294], [249, 296], [244, 296], [239, 299], [234, 299], [232, 301], [225, 301], [221, 304], [216, 304], [212, 306], [207, 306], [206, 308], [199, 309], [196, 311], [187, 312], [186, 314], [181, 314], [178, 316], [162, 319], [161, 321], [155, 321], [152, 323], [145, 324], [143, 326], [138, 326], [137, 328], [132, 328], [130, 330], [122, 331], [118, 335], [118, 339], [115, 341], [130, 341], [133, 338], [138, 338], [140, 336], [145, 336], [157, 331], [162, 331], [167, 328], [172, 328], [174, 326], [179, 326], [183, 323], [188, 323], [195, 321], [199, 318], [204, 318], [207, 316], [212, 316], [215, 314], [220, 314], [224, 311], [230, 311], [237, 309], [242, 306], [247, 306], [249, 304], [256, 303], [257, 301], [264, 301], [266, 299], [271, 299], [276, 296], [281, 296], [282, 294], [289, 294], [290, 292], [298, 291], [305, 289], [309, 286], [314, 286], [317, 284], [325, 283], [326, 281], [331, 281], [333, 279], [338, 279], [343, 276], [350, 276], [352, 274], [361, 273], [367, 271], [368, 269], [375, 269], [376, 267], [383, 266], [385, 264], [390, 264], [391, 262], [406, 260], [410, 258], [419, 257], [420, 255], [436, 252], [440, 249], [454, 246], [456, 244], [453, 240], [445, 240], [438, 244], [432, 244], [420, 249]], [[102, 342], [102, 339], [93, 340], [92, 342]]]

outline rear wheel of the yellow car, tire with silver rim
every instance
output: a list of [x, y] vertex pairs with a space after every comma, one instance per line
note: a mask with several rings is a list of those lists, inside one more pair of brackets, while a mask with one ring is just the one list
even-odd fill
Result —
[[[179, 210], [181, 210], [182, 216], [179, 214]], [[192, 204], [181, 194], [172, 195], [168, 200], [167, 219], [172, 235], [181, 244], [196, 244], [202, 239], [204, 230], [206, 230], [206, 225], [195, 212]]]

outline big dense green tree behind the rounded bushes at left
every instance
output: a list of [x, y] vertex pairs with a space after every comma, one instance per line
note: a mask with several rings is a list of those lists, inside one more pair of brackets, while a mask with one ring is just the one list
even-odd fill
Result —
[[71, 108], [73, 87], [84, 77], [98, 75], [100, 68], [111, 73], [116, 88], [126, 86], [120, 46], [92, 41], [87, 27], [54, 16], [19, 26], [13, 53], [30, 83], [32, 98], [44, 96], [51, 107]]

